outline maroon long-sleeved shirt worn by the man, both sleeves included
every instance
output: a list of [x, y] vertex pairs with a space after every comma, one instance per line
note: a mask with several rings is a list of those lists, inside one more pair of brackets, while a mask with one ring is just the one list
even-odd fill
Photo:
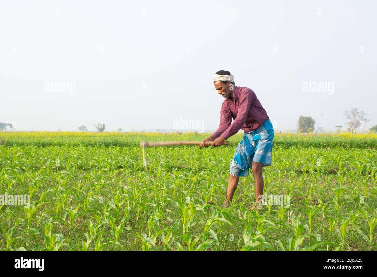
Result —
[[[238, 132], [239, 129], [249, 132], [257, 129], [267, 119], [270, 119], [259, 102], [255, 92], [248, 87], [234, 86], [233, 97], [224, 99], [220, 111], [220, 127], [216, 130], [212, 138], [222, 136], [227, 139]], [[234, 119], [233, 124], [232, 118]]]

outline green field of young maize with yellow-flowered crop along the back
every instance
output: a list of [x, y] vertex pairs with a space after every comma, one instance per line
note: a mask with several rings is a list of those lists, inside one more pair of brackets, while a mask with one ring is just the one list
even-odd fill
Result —
[[0, 250], [369, 251], [377, 248], [377, 135], [275, 134], [264, 193], [289, 205], [252, 209], [240, 178], [221, 208], [229, 146], [146, 148], [201, 133], [0, 132]]

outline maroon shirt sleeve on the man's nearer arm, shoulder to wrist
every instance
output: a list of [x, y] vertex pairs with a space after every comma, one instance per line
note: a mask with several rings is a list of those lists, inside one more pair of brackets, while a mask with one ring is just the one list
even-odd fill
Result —
[[254, 93], [250, 90], [244, 90], [239, 92], [239, 106], [237, 117], [234, 119], [233, 124], [228, 126], [228, 128], [221, 134], [225, 139], [233, 136], [238, 132], [239, 129], [245, 124], [247, 113], [250, 109], [250, 105], [253, 102]]

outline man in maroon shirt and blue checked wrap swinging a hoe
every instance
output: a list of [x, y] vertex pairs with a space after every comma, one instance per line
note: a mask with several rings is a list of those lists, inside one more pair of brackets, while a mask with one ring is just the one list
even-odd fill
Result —
[[[229, 71], [216, 72], [213, 76], [213, 84], [218, 94], [225, 98], [221, 105], [220, 126], [199, 146], [208, 147], [208, 141], [213, 141], [214, 146], [220, 146], [225, 139], [236, 134], [239, 129], [245, 131], [233, 155], [227, 199], [221, 207], [225, 208], [230, 205], [239, 177], [248, 176], [249, 168], [253, 171], [258, 203], [259, 196], [263, 195], [262, 167], [271, 165], [274, 129], [270, 118], [253, 90], [235, 86], [234, 76]], [[232, 118], [234, 121], [231, 124]], [[257, 207], [260, 206], [257, 205]]]

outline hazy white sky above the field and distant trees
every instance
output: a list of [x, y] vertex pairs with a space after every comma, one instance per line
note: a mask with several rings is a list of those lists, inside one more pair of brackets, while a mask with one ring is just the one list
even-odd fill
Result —
[[[181, 117], [215, 130], [224, 98], [212, 77], [229, 70], [278, 130], [294, 129], [300, 115], [326, 130], [345, 126], [352, 107], [367, 113], [369, 129], [376, 8], [364, 0], [2, 0], [0, 122], [94, 130], [103, 121], [110, 131], [173, 129]], [[309, 80], [333, 90], [305, 91]]]

